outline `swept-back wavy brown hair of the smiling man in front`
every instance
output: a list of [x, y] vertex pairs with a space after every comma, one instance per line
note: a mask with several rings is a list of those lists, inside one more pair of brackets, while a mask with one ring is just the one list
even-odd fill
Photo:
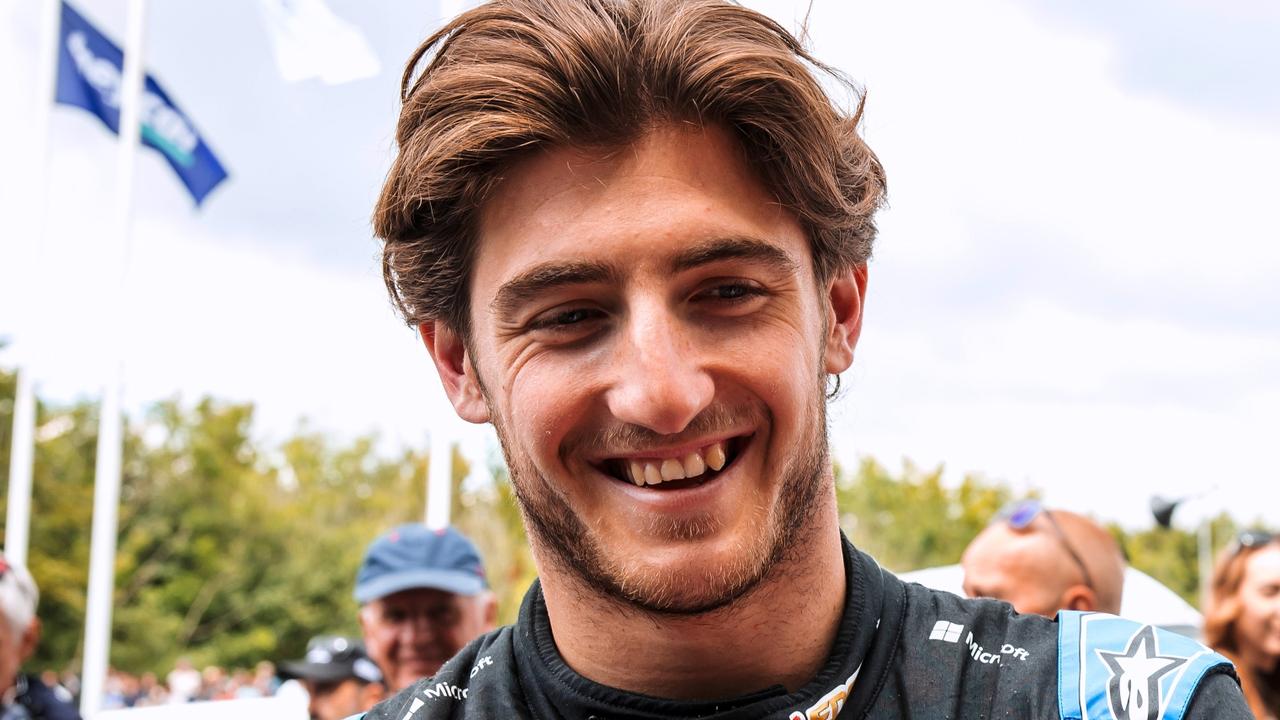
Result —
[[[851, 110], [819, 76], [846, 88]], [[732, 131], [800, 219], [820, 279], [870, 255], [884, 172], [858, 133], [861, 92], [728, 1], [486, 3], [413, 53], [401, 102], [372, 223], [410, 325], [439, 319], [468, 334], [476, 217], [506, 167], [543, 147], [623, 146], [666, 123]]]

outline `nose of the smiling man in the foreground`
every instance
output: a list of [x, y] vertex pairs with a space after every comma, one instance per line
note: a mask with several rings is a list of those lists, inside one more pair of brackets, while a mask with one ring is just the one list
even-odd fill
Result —
[[689, 427], [716, 395], [691, 328], [659, 302], [634, 309], [613, 357], [614, 418], [660, 434]]

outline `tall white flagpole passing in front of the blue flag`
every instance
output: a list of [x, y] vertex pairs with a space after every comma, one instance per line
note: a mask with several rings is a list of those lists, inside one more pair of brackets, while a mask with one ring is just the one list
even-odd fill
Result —
[[119, 254], [119, 287], [108, 291], [102, 325], [114, 329], [106, 338], [108, 378], [102, 387], [99, 416], [97, 462], [93, 473], [93, 533], [90, 547], [88, 600], [84, 612], [84, 666], [81, 679], [81, 715], [93, 720], [102, 708], [111, 651], [111, 606], [115, 594], [116, 521], [120, 505], [120, 473], [124, 454], [120, 393], [124, 383], [123, 343], [125, 279], [129, 268], [129, 236], [133, 219], [133, 167], [142, 133], [140, 106], [143, 79], [146, 0], [129, 0], [120, 77], [120, 127], [115, 177], [115, 232]]

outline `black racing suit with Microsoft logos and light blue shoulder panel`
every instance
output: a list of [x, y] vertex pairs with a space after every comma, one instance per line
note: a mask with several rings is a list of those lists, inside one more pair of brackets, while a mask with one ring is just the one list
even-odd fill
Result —
[[[1247, 720], [1235, 673], [1203, 646], [1103, 614], [1057, 620], [908, 584], [844, 541], [847, 593], [831, 653], [804, 687], [669, 701], [594, 683], [561, 659], [541, 588], [365, 720]], [[767, 651], [768, 648], [762, 648]], [[643, 652], [643, 650], [641, 650]]]

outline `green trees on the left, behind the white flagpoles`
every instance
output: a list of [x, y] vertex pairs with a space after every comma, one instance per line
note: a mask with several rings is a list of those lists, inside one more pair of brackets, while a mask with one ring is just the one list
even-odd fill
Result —
[[[3, 410], [13, 384], [0, 379]], [[81, 402], [42, 406], [38, 427], [28, 565], [45, 638], [31, 666], [60, 669], [82, 652], [97, 423]], [[6, 439], [10, 428], [0, 415]], [[357, 632], [361, 555], [421, 518], [429, 459], [379, 459], [374, 438], [339, 447], [314, 433], [268, 454], [251, 428], [251, 406], [211, 400], [161, 402], [128, 424], [113, 666], [164, 673], [179, 655], [248, 666], [298, 657], [320, 632]], [[8, 462], [0, 471], [6, 486]]]

